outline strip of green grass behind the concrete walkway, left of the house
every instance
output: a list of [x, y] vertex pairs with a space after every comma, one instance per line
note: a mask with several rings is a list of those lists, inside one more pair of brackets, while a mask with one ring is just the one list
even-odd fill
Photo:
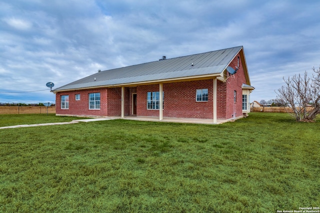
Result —
[[21, 124], [43, 124], [55, 122], [70, 122], [79, 117], [55, 116], [55, 114], [2, 114], [0, 115], [0, 127], [15, 126]]

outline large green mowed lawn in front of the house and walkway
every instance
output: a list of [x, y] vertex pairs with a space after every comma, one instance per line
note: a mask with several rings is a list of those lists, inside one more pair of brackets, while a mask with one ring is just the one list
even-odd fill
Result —
[[0, 212], [274, 213], [320, 204], [320, 123], [109, 120], [0, 130]]

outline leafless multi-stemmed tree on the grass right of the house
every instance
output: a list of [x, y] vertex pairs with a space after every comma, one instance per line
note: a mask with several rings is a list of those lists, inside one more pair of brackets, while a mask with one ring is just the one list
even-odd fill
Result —
[[284, 100], [292, 109], [288, 114], [295, 117], [297, 121], [314, 121], [320, 113], [320, 67], [313, 68], [312, 77], [294, 75], [284, 79], [285, 85], [277, 90], [277, 98]]

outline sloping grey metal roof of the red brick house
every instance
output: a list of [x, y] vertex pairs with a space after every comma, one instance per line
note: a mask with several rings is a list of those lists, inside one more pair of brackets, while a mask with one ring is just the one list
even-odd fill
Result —
[[165, 81], [183, 77], [220, 74], [242, 48], [242, 46], [238, 46], [104, 70], [58, 87], [52, 91], [129, 85], [139, 82]]

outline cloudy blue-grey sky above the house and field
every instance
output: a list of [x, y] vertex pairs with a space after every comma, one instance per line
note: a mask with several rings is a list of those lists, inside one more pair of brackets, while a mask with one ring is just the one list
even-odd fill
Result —
[[1, 0], [0, 102], [54, 103], [47, 82], [240, 45], [251, 101], [270, 100], [282, 77], [319, 67], [319, 11], [318, 0]]

